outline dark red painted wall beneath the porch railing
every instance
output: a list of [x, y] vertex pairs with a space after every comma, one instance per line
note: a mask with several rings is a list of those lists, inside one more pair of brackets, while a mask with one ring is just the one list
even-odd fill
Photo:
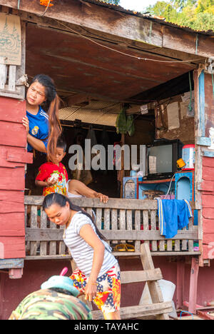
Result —
[[[177, 264], [169, 262], [167, 256], [154, 256], [153, 262], [156, 268], [161, 268], [163, 279], [175, 283], [177, 279]], [[120, 260], [121, 270], [141, 270], [141, 262], [138, 259]], [[26, 260], [24, 263], [24, 275], [19, 280], [11, 280], [6, 273], [0, 273], [0, 319], [9, 318], [22, 299], [29, 293], [39, 290], [41, 283], [51, 277], [59, 275], [61, 269], [67, 266], [71, 268], [70, 262], [65, 260]], [[210, 267], [199, 269], [198, 275], [198, 299], [197, 303], [203, 305], [205, 301], [214, 300], [214, 260]], [[190, 265], [185, 264], [185, 288], [184, 300], [188, 301], [190, 283]], [[137, 305], [143, 285], [133, 283], [122, 286], [121, 305]], [[176, 290], [174, 295], [176, 305]]]

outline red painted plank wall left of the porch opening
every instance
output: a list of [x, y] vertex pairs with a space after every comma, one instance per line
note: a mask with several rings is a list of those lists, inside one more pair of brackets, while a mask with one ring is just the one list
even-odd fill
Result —
[[26, 152], [24, 116], [25, 101], [0, 98], [0, 258], [25, 257], [24, 166], [32, 154]]

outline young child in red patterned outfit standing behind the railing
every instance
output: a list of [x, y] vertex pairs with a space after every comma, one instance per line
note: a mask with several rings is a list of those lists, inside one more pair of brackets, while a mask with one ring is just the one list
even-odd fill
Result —
[[65, 166], [61, 163], [65, 155], [66, 143], [59, 138], [56, 144], [56, 156], [53, 156], [52, 161], [41, 165], [36, 176], [36, 186], [44, 188], [43, 196], [49, 195], [49, 193], [61, 193], [66, 196], [68, 174]]

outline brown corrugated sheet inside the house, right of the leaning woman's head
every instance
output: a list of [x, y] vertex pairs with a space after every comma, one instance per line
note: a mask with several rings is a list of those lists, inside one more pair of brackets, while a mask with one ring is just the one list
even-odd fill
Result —
[[63, 121], [80, 119], [83, 123], [115, 126], [121, 103], [91, 101], [88, 106], [71, 106], [59, 111], [59, 118]]

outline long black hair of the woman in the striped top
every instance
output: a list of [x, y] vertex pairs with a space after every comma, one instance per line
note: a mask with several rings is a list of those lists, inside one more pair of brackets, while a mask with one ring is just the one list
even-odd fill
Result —
[[83, 215], [90, 218], [92, 223], [93, 223], [93, 226], [95, 227], [96, 233], [99, 236], [99, 238], [101, 238], [101, 240], [106, 240], [106, 238], [98, 230], [98, 227], [96, 226], [96, 223], [93, 221], [93, 218], [91, 217], [91, 215], [89, 215], [89, 213], [84, 211], [79, 206], [75, 206], [73, 203], [71, 203], [69, 198], [67, 198], [66, 196], [61, 195], [61, 193], [50, 193], [49, 195], [47, 195], [44, 198], [44, 202], [43, 202], [42, 207], [43, 207], [43, 210], [46, 210], [47, 208], [50, 208], [54, 204], [58, 204], [58, 206], [60, 206], [61, 208], [64, 208], [66, 206], [66, 203], [69, 204], [71, 210], [76, 211], [76, 212], [81, 211], [81, 213], [83, 213]]

